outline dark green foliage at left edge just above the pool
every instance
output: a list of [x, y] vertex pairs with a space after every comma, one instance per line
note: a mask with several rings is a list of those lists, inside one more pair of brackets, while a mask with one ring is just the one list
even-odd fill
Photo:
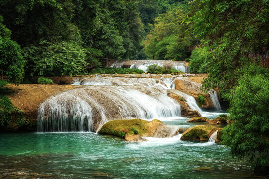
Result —
[[22, 118], [22, 114], [23, 112], [13, 106], [8, 97], [0, 95], [0, 127], [10, 125], [13, 119]]

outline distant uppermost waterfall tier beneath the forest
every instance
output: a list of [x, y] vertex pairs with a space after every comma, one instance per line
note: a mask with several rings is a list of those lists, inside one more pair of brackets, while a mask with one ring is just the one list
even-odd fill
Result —
[[185, 62], [171, 61], [171, 60], [125, 60], [125, 61], [115, 62], [114, 64], [112, 64], [111, 67], [140, 69], [146, 72], [147, 67], [154, 64], [157, 64], [158, 66], [169, 68], [169, 69], [174, 68], [184, 73], [189, 72], [188, 66], [184, 65]]

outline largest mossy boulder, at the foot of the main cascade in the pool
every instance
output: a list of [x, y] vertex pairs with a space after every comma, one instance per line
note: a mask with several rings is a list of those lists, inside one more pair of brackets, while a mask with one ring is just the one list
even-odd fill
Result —
[[142, 136], [152, 137], [160, 124], [162, 122], [157, 119], [152, 121], [142, 119], [113, 120], [104, 124], [98, 132], [118, 136], [127, 141], [140, 141]]

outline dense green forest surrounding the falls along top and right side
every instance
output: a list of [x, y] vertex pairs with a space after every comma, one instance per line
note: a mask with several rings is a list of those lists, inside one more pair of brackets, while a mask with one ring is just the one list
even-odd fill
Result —
[[[269, 162], [268, 0], [0, 0], [0, 71], [74, 75], [99, 59], [190, 61], [230, 102], [222, 144], [253, 168]], [[187, 47], [197, 46], [190, 53]]]

